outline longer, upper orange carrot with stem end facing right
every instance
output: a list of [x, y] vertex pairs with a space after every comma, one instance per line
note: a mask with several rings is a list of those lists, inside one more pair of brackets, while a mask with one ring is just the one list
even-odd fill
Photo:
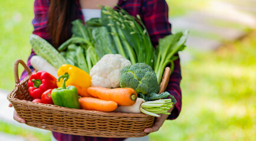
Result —
[[137, 99], [137, 93], [132, 88], [107, 89], [102, 87], [89, 87], [87, 93], [94, 98], [114, 101], [120, 106], [133, 105]]

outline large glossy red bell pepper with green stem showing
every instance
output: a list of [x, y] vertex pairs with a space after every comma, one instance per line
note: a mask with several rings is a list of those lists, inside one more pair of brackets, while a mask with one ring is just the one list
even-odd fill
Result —
[[42, 93], [48, 89], [58, 88], [57, 79], [50, 73], [38, 71], [33, 73], [28, 80], [28, 92], [33, 99], [41, 99]]

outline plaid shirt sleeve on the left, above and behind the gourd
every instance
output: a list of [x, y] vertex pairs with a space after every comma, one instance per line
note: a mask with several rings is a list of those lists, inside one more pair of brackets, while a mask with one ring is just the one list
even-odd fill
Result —
[[[47, 21], [48, 21], [48, 9], [50, 3], [48, 0], [35, 0], [34, 2], [34, 19], [32, 20], [32, 25], [34, 26], [34, 31], [32, 32], [35, 35], [40, 36], [46, 41], [50, 42], [50, 35], [47, 30]], [[34, 71], [32, 68], [30, 59], [35, 55], [33, 49], [31, 49], [31, 54], [28, 57], [27, 65]], [[21, 80], [28, 75], [27, 71], [23, 71], [21, 75]]]

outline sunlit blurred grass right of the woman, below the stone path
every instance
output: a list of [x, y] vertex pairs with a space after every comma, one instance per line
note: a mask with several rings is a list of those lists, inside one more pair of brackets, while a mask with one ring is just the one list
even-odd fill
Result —
[[193, 52], [182, 68], [182, 112], [150, 140], [255, 140], [255, 37]]

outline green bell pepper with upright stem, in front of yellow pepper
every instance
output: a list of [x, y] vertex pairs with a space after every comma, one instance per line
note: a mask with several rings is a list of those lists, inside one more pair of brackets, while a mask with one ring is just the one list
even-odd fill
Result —
[[65, 108], [80, 109], [78, 101], [77, 88], [75, 86], [68, 86], [66, 88], [65, 82], [67, 78], [63, 80], [63, 87], [53, 89], [51, 92], [51, 98], [54, 105], [63, 106]]

